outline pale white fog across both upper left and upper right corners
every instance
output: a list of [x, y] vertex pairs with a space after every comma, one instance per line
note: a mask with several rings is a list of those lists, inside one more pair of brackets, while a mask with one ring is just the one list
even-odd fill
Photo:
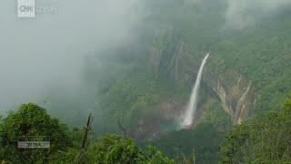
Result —
[[[49, 0], [36, 1], [36, 5], [45, 1]], [[36, 14], [35, 18], [18, 18], [16, 1], [0, 2], [0, 110], [4, 115], [8, 109], [27, 102], [58, 108], [72, 103], [87, 114], [98, 98], [96, 85], [86, 81], [87, 60], [105, 56], [104, 51], [120, 46], [134, 48], [141, 33], [145, 36], [142, 28], [157, 28], [145, 24], [143, 18], [151, 16], [152, 10], [163, 15], [159, 9], [167, 6], [167, 1], [161, 1], [163, 4], [140, 0], [49, 2], [57, 6], [57, 12]], [[291, 5], [289, 0], [221, 2], [226, 2], [226, 11], [220, 15], [226, 18], [227, 27], [235, 29], [253, 25]], [[151, 7], [145, 12], [143, 9], [149, 4]], [[105, 65], [91, 63], [96, 67]]]

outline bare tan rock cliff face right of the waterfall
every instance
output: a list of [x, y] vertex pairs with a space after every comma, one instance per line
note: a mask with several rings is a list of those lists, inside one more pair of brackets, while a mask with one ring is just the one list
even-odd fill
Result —
[[[220, 77], [217, 77], [210, 68], [206, 69], [204, 82], [210, 87], [221, 101], [222, 107], [231, 116], [234, 124], [240, 124], [251, 115], [255, 103], [255, 93], [251, 83], [244, 77], [230, 74], [235, 84], [228, 84]], [[226, 85], [227, 84], [227, 85]]]

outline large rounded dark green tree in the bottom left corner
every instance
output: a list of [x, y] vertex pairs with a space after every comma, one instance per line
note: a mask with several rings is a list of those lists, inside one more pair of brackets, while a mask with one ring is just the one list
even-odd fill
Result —
[[[18, 149], [20, 138], [47, 137], [49, 149]], [[14, 163], [47, 163], [58, 159], [72, 145], [65, 124], [51, 118], [44, 108], [29, 103], [10, 111], [0, 123], [0, 159]]]

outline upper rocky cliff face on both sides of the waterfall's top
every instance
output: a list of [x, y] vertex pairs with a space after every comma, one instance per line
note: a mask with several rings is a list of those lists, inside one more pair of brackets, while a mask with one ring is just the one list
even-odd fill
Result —
[[[195, 61], [187, 55], [182, 40], [176, 42], [172, 51], [152, 54], [153, 67], [157, 73], [165, 73], [176, 82], [196, 77], [201, 61]], [[206, 54], [202, 52], [202, 54]], [[211, 55], [210, 55], [211, 58]], [[220, 99], [221, 106], [231, 116], [234, 124], [239, 124], [251, 115], [255, 104], [255, 93], [249, 81], [234, 70], [226, 72], [231, 82], [214, 74], [212, 67], [206, 64], [203, 83]], [[194, 85], [194, 84], [193, 84]], [[181, 109], [179, 109], [181, 110]]]

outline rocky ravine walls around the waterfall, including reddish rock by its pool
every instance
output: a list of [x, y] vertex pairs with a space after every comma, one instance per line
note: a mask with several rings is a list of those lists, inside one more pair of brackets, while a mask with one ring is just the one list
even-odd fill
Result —
[[[175, 46], [169, 48], [171, 50], [160, 51], [155, 47], [149, 49], [151, 67], [154, 68], [156, 76], [166, 76], [176, 85], [181, 82], [193, 85], [201, 60], [207, 52], [201, 52], [201, 58], [194, 59], [187, 53], [184, 45], [180, 39], [176, 41]], [[211, 56], [209, 56], [209, 60], [211, 60]], [[256, 102], [251, 82], [235, 70], [227, 72], [231, 81], [223, 79], [212, 71], [213, 67], [210, 64], [210, 62], [206, 64], [203, 73], [202, 86], [206, 88], [201, 92], [218, 99], [234, 125], [241, 123], [252, 114]], [[163, 102], [151, 107], [152, 112], [148, 116], [143, 115], [138, 118], [138, 121], [132, 126], [133, 128], [130, 129], [130, 135], [140, 140], [152, 140], [159, 138], [167, 131], [175, 130], [175, 124], [181, 114], [185, 112], [189, 98], [187, 96], [179, 97], [180, 92], [185, 92], [185, 90], [176, 91], [173, 96], [165, 97]], [[186, 95], [190, 96], [190, 93], [186, 93]], [[202, 103], [206, 103], [206, 101], [199, 103], [194, 127], [199, 121], [205, 120], [203, 110], [207, 106]]]

